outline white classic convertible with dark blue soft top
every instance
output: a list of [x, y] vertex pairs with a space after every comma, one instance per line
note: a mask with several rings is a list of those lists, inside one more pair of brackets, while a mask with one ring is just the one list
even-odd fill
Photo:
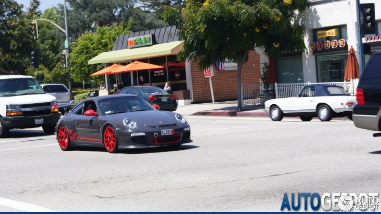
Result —
[[349, 95], [343, 87], [336, 85], [306, 85], [296, 97], [271, 99], [264, 103], [271, 120], [281, 121], [284, 116], [300, 117], [311, 121], [319, 117], [330, 121], [333, 117], [349, 117], [356, 97]]

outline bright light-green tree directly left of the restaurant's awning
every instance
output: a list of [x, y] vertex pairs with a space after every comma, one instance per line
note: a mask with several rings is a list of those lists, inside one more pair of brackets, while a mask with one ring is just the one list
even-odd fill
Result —
[[129, 26], [130, 24], [126, 28], [122, 24], [97, 26], [95, 32], [85, 32], [72, 43], [69, 61], [72, 79], [82, 82], [82, 80], [88, 81], [93, 78], [96, 82], [100, 82], [103, 76], [90, 77], [90, 74], [103, 69], [103, 65], [88, 65], [87, 62], [102, 52], [110, 51], [118, 35], [130, 33]]

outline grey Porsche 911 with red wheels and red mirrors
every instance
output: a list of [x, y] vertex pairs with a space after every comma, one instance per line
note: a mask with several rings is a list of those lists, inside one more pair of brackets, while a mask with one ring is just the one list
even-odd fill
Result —
[[192, 142], [186, 119], [174, 112], [158, 111], [134, 95], [86, 99], [62, 117], [56, 138], [62, 150], [78, 146], [118, 149], [178, 146]]

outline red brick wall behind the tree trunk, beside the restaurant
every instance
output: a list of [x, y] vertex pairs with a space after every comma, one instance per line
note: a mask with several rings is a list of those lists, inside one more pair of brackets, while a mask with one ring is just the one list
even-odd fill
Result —
[[[254, 67], [253, 67], [254, 64]], [[237, 70], [218, 71], [212, 77], [213, 93], [215, 100], [237, 99]], [[204, 77], [197, 62], [191, 64], [193, 102], [211, 101], [209, 78]], [[255, 50], [249, 51], [248, 61], [241, 70], [241, 83], [259, 83], [261, 75], [261, 61]]]

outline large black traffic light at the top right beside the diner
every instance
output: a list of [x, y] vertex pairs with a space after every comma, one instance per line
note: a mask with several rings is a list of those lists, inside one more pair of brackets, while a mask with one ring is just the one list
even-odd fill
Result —
[[376, 34], [375, 4], [360, 4], [361, 34]]

